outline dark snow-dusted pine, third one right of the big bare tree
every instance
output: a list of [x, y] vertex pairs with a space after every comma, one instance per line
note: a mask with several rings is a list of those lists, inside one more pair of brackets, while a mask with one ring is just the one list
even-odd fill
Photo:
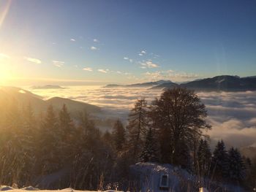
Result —
[[228, 151], [228, 163], [228, 176], [230, 180], [233, 180], [236, 183], [240, 183], [241, 180], [244, 180], [246, 169], [244, 160], [239, 151], [233, 147]]

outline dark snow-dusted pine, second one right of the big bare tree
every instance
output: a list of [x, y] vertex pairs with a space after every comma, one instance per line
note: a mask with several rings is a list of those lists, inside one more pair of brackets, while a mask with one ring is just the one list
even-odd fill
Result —
[[223, 141], [217, 143], [211, 162], [214, 177], [222, 180], [228, 176], [228, 155]]

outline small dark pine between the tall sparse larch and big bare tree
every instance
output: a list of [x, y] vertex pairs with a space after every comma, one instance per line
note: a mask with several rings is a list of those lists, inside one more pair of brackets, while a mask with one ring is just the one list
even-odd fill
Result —
[[152, 131], [152, 128], [149, 128], [146, 134], [146, 141], [144, 142], [143, 151], [140, 155], [140, 161], [158, 161], [156, 140], [154, 139], [154, 133]]

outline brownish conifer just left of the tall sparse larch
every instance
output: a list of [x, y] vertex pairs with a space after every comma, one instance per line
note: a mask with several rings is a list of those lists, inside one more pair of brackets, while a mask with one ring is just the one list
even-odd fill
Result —
[[120, 120], [116, 120], [116, 123], [113, 127], [112, 136], [116, 150], [120, 151], [123, 148], [125, 142], [125, 129]]

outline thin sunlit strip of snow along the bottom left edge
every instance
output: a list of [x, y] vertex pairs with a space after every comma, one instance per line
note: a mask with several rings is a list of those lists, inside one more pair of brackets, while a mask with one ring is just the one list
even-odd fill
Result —
[[[0, 191], [10, 191], [10, 192], [26, 192], [26, 191], [40, 191], [40, 192], [93, 192], [93, 191], [80, 191], [80, 190], [74, 190], [72, 188], [64, 188], [61, 190], [39, 190], [38, 188], [33, 188], [31, 186], [26, 188], [12, 188], [10, 186], [1, 185]], [[96, 192], [96, 191], [95, 191]], [[118, 192], [115, 190], [108, 190], [105, 192]]]

